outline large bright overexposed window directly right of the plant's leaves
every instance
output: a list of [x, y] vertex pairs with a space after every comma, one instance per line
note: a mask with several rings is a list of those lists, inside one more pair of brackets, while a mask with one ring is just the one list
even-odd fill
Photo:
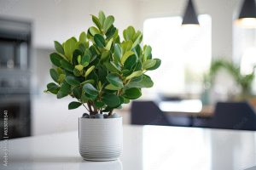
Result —
[[155, 58], [162, 60], [153, 76], [155, 92], [165, 94], [199, 94], [203, 74], [211, 63], [212, 20], [199, 16], [201, 26], [182, 27], [181, 17], [145, 20], [144, 44], [149, 44]]

